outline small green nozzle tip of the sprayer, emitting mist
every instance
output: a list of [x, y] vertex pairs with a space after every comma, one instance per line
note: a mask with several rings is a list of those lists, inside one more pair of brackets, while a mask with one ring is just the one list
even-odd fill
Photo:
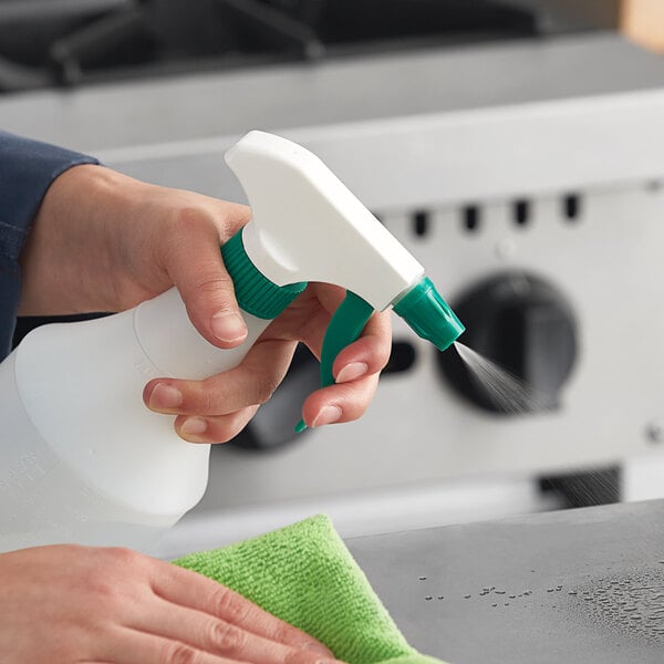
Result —
[[440, 351], [447, 350], [466, 330], [428, 277], [403, 295], [394, 311], [418, 336], [430, 341]]

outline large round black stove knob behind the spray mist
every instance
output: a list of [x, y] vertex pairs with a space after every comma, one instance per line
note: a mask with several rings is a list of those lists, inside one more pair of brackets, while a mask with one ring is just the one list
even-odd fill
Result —
[[550, 283], [525, 272], [491, 277], [467, 291], [454, 311], [466, 325], [460, 342], [523, 381], [528, 398], [512, 408], [496, 400], [455, 352], [439, 353], [445, 378], [474, 405], [494, 413], [548, 411], [577, 355], [573, 312]]

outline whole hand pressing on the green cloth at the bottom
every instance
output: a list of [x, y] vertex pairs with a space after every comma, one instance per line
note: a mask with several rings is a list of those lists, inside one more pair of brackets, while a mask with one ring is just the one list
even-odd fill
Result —
[[127, 549], [0, 554], [2, 664], [332, 664], [292, 625], [195, 572]]

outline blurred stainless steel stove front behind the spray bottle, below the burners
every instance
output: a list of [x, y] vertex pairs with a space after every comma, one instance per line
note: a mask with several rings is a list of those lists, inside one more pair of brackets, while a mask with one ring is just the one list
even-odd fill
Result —
[[245, 447], [215, 452], [208, 494], [162, 554], [315, 510], [342, 535], [537, 510], [559, 505], [541, 477], [600, 483], [592, 473], [616, 465], [661, 467], [662, 58], [611, 32], [533, 30], [245, 65], [38, 86], [0, 97], [0, 126], [230, 199], [242, 194], [221, 155], [247, 129], [302, 143], [453, 305], [481, 303], [474, 344], [519, 339], [497, 352], [547, 394], [547, 407], [487, 407], [395, 320], [391, 371], [367, 415], [291, 436], [315, 380], [303, 360]]

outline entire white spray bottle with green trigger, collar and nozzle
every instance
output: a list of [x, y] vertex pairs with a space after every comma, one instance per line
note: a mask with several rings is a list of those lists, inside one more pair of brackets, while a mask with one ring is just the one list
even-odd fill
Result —
[[423, 267], [313, 154], [250, 132], [226, 160], [252, 209], [221, 248], [247, 340], [209, 344], [176, 289], [25, 336], [0, 364], [0, 551], [68, 541], [145, 549], [172, 527], [205, 491], [209, 445], [184, 442], [173, 417], [148, 411], [145, 383], [236, 366], [308, 281], [347, 289], [324, 339], [323, 385], [374, 310], [393, 307], [440, 350], [464, 331]]

